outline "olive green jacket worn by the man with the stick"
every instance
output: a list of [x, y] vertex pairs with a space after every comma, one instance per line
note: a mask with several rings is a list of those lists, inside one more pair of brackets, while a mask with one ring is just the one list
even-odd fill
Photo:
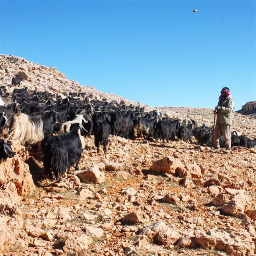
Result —
[[232, 124], [234, 111], [235, 111], [235, 104], [232, 96], [228, 96], [227, 98], [223, 98], [219, 100], [218, 106], [221, 107], [217, 113], [217, 124]]

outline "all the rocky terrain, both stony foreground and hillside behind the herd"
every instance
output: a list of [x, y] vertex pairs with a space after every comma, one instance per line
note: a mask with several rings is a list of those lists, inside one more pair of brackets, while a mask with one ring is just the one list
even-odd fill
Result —
[[[1, 55], [1, 85], [86, 92], [124, 100], [67, 80], [54, 68]], [[25, 79], [25, 78], [24, 78]], [[150, 107], [147, 106], [148, 109]], [[206, 108], [158, 108], [165, 115], [212, 125]], [[234, 128], [256, 137], [255, 119], [235, 114]], [[256, 252], [256, 150], [230, 155], [173, 141], [110, 136], [108, 153], [86, 139], [79, 170], [56, 183], [43, 155], [12, 141], [0, 163], [0, 255], [251, 256]]]

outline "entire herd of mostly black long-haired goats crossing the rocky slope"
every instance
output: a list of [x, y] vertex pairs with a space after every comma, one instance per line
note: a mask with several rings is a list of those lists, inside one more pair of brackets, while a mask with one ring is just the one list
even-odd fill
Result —
[[[13, 157], [12, 139], [22, 144], [36, 145], [44, 154], [44, 170], [60, 182], [60, 176], [78, 163], [85, 148], [86, 136], [94, 135], [99, 152], [100, 144], [106, 152], [110, 134], [163, 143], [184, 140], [211, 146], [212, 127], [197, 126], [194, 120], [162, 117], [157, 110], [145, 112], [139, 106], [126, 106], [106, 99], [92, 100], [85, 93], [54, 95], [28, 88], [14, 88], [12, 94], [0, 87], [0, 136], [8, 129], [8, 139], [0, 139], [0, 161]], [[6, 133], [5, 133], [6, 134]], [[54, 135], [53, 135], [54, 134]], [[220, 145], [224, 147], [223, 138]], [[232, 146], [252, 148], [256, 140], [232, 133]], [[46, 150], [47, 149], [47, 150]]]

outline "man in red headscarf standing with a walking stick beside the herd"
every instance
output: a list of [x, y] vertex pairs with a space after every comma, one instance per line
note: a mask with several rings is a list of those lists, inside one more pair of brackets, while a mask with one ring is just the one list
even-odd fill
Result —
[[235, 104], [228, 87], [221, 90], [218, 106], [215, 107], [214, 114], [217, 114], [216, 126], [214, 128], [214, 145], [212, 152], [220, 152], [220, 136], [226, 142], [224, 153], [230, 154], [231, 151], [231, 125], [234, 117]]

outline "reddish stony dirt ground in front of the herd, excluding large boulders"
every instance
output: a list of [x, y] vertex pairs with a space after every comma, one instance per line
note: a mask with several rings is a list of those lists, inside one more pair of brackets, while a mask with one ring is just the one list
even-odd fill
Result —
[[[186, 187], [182, 184], [183, 178], [177, 174], [152, 171], [152, 162], [165, 156], [180, 160], [183, 165], [200, 166], [201, 175], [192, 175], [191, 184]], [[120, 164], [112, 164], [111, 167], [111, 162]], [[6, 248], [6, 256], [226, 255], [198, 245], [193, 249], [174, 247], [168, 238], [163, 244], [154, 237], [140, 235], [138, 230], [159, 221], [181, 233], [214, 227], [218, 230], [229, 228], [234, 233], [247, 229], [246, 218], [226, 214], [220, 206], [210, 204], [218, 192], [210, 190], [209, 184], [204, 182], [214, 178], [211, 185], [219, 192], [224, 188], [242, 188], [253, 200], [251, 202], [256, 202], [256, 154], [244, 148], [233, 148], [230, 155], [213, 154], [209, 148], [196, 148], [193, 144], [180, 141], [163, 145], [160, 142], [110, 136], [108, 154], [105, 155], [103, 152], [97, 154], [91, 137], [87, 139], [80, 170], [76, 172], [90, 170], [97, 165], [105, 174], [101, 184], [80, 182], [74, 170], [73, 174], [66, 174], [62, 182], [56, 184], [42, 174], [42, 155], [33, 150], [30, 150], [27, 163], [36, 189], [31, 196], [17, 203], [24, 221], [21, 230], [33, 225], [52, 232], [52, 240], [40, 238], [40, 232], [30, 234], [23, 238], [24, 243]], [[124, 192], [127, 188], [132, 188], [132, 191]], [[83, 189], [89, 190], [86, 191], [88, 195], [81, 193]], [[178, 197], [178, 203], [162, 202], [161, 198], [170, 193]], [[58, 215], [60, 209], [62, 214]], [[122, 221], [124, 216], [136, 210], [144, 212], [148, 218], [144, 220], [143, 217], [138, 223]], [[250, 223], [255, 227], [253, 218]], [[91, 232], [87, 226], [100, 229]], [[81, 234], [92, 238], [89, 247], [80, 252], [75, 252], [74, 248], [63, 252], [67, 238]], [[140, 241], [143, 243], [140, 244]]]

